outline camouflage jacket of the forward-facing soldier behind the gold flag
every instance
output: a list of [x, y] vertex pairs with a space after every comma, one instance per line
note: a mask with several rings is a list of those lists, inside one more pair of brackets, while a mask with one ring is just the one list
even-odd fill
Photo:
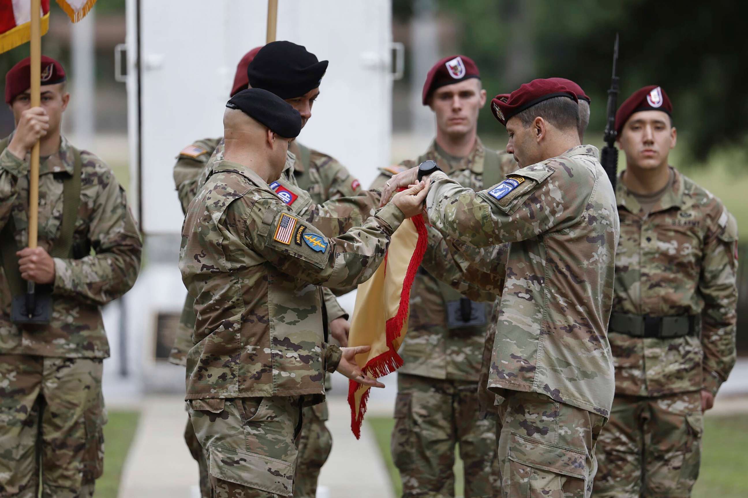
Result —
[[[382, 168], [381, 174], [374, 180], [372, 187], [380, 188], [387, 182], [387, 179], [390, 179], [392, 173], [420, 165], [423, 161], [432, 160], [460, 185], [479, 191], [483, 189], [483, 168], [487, 153], [497, 155], [493, 150], [485, 149], [480, 138], [476, 137], [475, 146], [468, 156], [455, 162], [453, 158], [441, 155], [436, 141], [433, 141], [426, 153], [416, 161], [403, 161], [397, 166]], [[497, 163], [502, 171], [501, 174], [496, 175], [497, 178], [503, 177], [516, 166], [509, 154], [502, 153], [498, 156]], [[438, 244], [438, 239], [432, 239], [433, 233], [429, 233], [429, 246]], [[429, 274], [428, 268], [431, 263], [428, 259], [431, 257], [426, 259], [426, 264], [421, 265], [411, 288], [408, 333], [398, 351], [403, 360], [403, 365], [398, 372], [455, 381], [477, 381], [485, 329], [491, 314], [491, 303], [471, 305], [482, 312], [477, 320], [482, 322], [480, 325], [450, 328], [447, 318], [447, 300], [459, 299], [459, 293], [448, 295], [442, 292], [444, 286], [440, 285], [440, 280], [443, 280], [443, 277], [440, 275], [437, 278]]]

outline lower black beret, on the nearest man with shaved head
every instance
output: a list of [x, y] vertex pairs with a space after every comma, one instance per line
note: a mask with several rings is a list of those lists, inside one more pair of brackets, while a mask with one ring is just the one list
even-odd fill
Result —
[[301, 132], [301, 114], [298, 114], [288, 102], [268, 90], [242, 90], [229, 99], [226, 107], [239, 109], [281, 137], [295, 138]]

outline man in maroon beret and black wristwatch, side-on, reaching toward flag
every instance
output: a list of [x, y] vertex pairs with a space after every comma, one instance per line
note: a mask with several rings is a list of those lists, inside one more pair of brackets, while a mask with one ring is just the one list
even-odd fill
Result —
[[[589, 497], [595, 441], [614, 390], [607, 342], [619, 233], [613, 188], [595, 147], [580, 145], [573, 90], [534, 80], [494, 99], [491, 110], [520, 169], [480, 192], [433, 173], [429, 221], [463, 245], [511, 243], [506, 264], [497, 257], [485, 271], [493, 282], [474, 279], [488, 290], [503, 287], [488, 378], [500, 405], [503, 496]], [[392, 182], [414, 179], [401, 175]]]

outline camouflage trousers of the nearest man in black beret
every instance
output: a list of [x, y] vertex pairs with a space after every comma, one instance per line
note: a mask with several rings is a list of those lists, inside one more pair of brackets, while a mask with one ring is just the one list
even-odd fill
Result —
[[212, 497], [291, 496], [301, 430], [298, 396], [192, 399], [188, 404], [206, 452]]

